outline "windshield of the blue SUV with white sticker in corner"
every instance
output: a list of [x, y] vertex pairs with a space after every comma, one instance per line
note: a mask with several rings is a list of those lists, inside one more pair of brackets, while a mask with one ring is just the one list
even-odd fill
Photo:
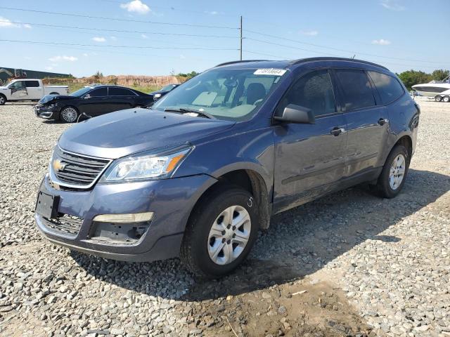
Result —
[[214, 69], [203, 72], [153, 104], [154, 110], [190, 109], [243, 121], [274, 90], [285, 70]]

